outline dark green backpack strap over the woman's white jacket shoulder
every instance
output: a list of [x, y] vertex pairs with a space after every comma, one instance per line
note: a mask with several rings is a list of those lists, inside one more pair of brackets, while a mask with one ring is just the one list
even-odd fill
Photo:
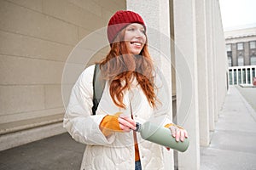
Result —
[[102, 78], [101, 74], [101, 68], [99, 64], [95, 65], [94, 68], [94, 75], [93, 75], [93, 106], [91, 108], [92, 115], [96, 115], [96, 110], [98, 108], [98, 105], [100, 103], [100, 100], [102, 99], [103, 90], [105, 88], [106, 80]]

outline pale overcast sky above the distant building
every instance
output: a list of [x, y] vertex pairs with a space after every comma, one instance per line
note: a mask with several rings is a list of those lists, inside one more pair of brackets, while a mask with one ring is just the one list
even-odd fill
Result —
[[256, 27], [256, 0], [219, 0], [224, 31]]

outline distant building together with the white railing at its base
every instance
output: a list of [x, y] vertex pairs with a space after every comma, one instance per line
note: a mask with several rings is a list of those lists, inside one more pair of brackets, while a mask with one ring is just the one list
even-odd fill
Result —
[[253, 85], [256, 77], [256, 27], [225, 31], [229, 83]]

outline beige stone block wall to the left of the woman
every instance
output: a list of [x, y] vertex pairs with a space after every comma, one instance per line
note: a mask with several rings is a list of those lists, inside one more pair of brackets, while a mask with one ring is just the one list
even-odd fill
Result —
[[68, 54], [125, 8], [125, 0], [1, 0], [0, 130], [9, 122], [63, 113]]

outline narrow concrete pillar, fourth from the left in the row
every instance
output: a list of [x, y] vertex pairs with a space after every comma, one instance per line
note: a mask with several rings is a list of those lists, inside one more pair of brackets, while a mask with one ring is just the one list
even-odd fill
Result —
[[214, 130], [214, 83], [212, 65], [212, 1], [206, 1], [206, 24], [207, 24], [207, 77], [208, 77], [208, 106], [209, 106], [209, 129]]

